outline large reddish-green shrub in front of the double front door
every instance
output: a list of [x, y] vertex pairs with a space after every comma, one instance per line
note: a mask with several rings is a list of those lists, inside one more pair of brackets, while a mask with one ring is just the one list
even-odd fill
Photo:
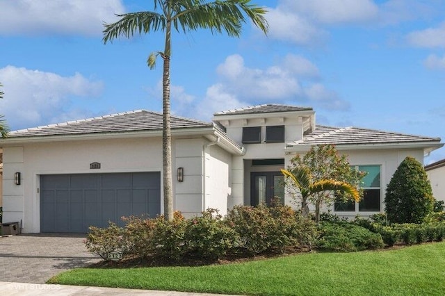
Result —
[[226, 223], [238, 234], [238, 251], [250, 255], [310, 247], [316, 237], [314, 222], [289, 206], [235, 206], [227, 214]]

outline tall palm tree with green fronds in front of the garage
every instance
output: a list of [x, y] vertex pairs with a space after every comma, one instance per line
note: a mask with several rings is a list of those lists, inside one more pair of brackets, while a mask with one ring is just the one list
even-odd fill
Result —
[[[105, 24], [103, 41], [112, 42], [123, 35], [131, 38], [135, 33], [165, 33], [163, 51], [149, 55], [147, 65], [153, 69], [156, 57], [163, 59], [163, 199], [164, 216], [173, 219], [172, 191], [172, 139], [170, 131], [170, 56], [172, 49], [172, 28], [187, 33], [198, 28], [210, 29], [212, 33], [223, 33], [231, 37], [241, 35], [241, 26], [246, 17], [264, 33], [268, 31], [268, 23], [264, 18], [266, 9], [250, 3], [250, 0], [153, 0], [154, 11], [141, 11], [117, 15], [118, 22]], [[161, 10], [160, 13], [156, 10]]]

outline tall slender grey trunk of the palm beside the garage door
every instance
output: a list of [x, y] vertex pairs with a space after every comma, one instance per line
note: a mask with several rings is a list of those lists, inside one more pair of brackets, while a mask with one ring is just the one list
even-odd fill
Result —
[[170, 128], [170, 34], [171, 22], [167, 23], [165, 30], [165, 50], [163, 52], [162, 77], [162, 163], [163, 163], [163, 190], [164, 190], [164, 217], [173, 220], [173, 183], [172, 183], [172, 133]]

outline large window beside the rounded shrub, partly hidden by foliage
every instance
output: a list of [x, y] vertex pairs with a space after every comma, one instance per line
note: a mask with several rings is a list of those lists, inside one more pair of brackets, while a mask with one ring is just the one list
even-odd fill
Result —
[[380, 165], [356, 165], [355, 169], [368, 173], [363, 179], [363, 197], [359, 203], [335, 202], [334, 211], [380, 212]]

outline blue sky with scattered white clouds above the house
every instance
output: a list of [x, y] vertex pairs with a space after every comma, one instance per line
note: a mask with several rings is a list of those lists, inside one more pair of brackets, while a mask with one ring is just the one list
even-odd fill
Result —
[[[444, 0], [252, 0], [267, 36], [173, 36], [172, 111], [209, 121], [220, 110], [291, 104], [317, 123], [445, 140]], [[103, 44], [114, 13], [151, 0], [0, 0], [0, 114], [12, 129], [128, 110], [161, 111], [163, 49], [152, 33]], [[445, 158], [445, 148], [426, 163]]]

